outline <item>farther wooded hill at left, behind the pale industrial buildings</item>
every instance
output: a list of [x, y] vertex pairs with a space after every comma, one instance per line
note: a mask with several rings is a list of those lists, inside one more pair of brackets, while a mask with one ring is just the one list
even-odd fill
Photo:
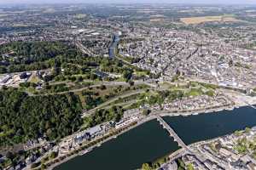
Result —
[[49, 68], [55, 57], [73, 58], [80, 52], [64, 42], [9, 42], [0, 46], [0, 73]]

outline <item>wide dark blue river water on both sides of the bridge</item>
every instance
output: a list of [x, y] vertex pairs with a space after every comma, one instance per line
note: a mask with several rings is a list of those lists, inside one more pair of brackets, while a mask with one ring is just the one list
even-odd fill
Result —
[[[241, 107], [233, 111], [166, 116], [164, 119], [185, 144], [192, 144], [256, 126], [256, 110]], [[159, 122], [153, 120], [102, 144], [84, 156], [77, 156], [55, 167], [55, 170], [131, 170], [177, 149], [177, 143], [160, 127]]]

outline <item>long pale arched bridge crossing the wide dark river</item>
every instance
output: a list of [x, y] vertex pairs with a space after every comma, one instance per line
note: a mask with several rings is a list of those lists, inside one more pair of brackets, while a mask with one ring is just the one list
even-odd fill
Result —
[[161, 116], [156, 116], [156, 119], [158, 120], [158, 122], [160, 122], [160, 124], [166, 128], [166, 130], [168, 131], [168, 133], [170, 133], [170, 135], [172, 136], [172, 138], [174, 139], [174, 141], [177, 142], [177, 144], [179, 146], [181, 146], [183, 149], [185, 150], [189, 150], [188, 146], [183, 143], [183, 140], [180, 139], [178, 136], [177, 136], [177, 133], [175, 133], [175, 131], [172, 129], [172, 127], [170, 127], [165, 121], [164, 119], [161, 117]]

